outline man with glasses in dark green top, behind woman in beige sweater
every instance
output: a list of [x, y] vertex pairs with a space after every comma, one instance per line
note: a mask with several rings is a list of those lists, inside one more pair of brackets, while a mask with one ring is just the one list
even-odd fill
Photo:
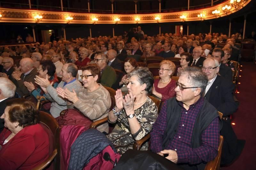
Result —
[[116, 71], [114, 68], [108, 66], [108, 57], [104, 53], [98, 54], [94, 57], [94, 62], [100, 67], [100, 81], [102, 86], [112, 87], [116, 82]]

